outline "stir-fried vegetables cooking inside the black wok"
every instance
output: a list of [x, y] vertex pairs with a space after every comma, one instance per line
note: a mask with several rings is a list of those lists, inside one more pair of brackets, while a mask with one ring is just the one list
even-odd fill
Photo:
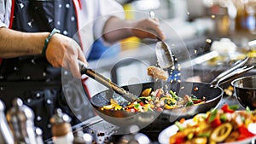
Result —
[[183, 98], [181, 98], [172, 90], [165, 92], [163, 89], [152, 90], [148, 88], [143, 90], [136, 101], [129, 103], [126, 107], [119, 106], [116, 101], [111, 99], [109, 105], [102, 107], [102, 110], [123, 110], [127, 112], [162, 111], [163, 108], [189, 107], [204, 101], [205, 98], [201, 100], [195, 95], [183, 95]]

